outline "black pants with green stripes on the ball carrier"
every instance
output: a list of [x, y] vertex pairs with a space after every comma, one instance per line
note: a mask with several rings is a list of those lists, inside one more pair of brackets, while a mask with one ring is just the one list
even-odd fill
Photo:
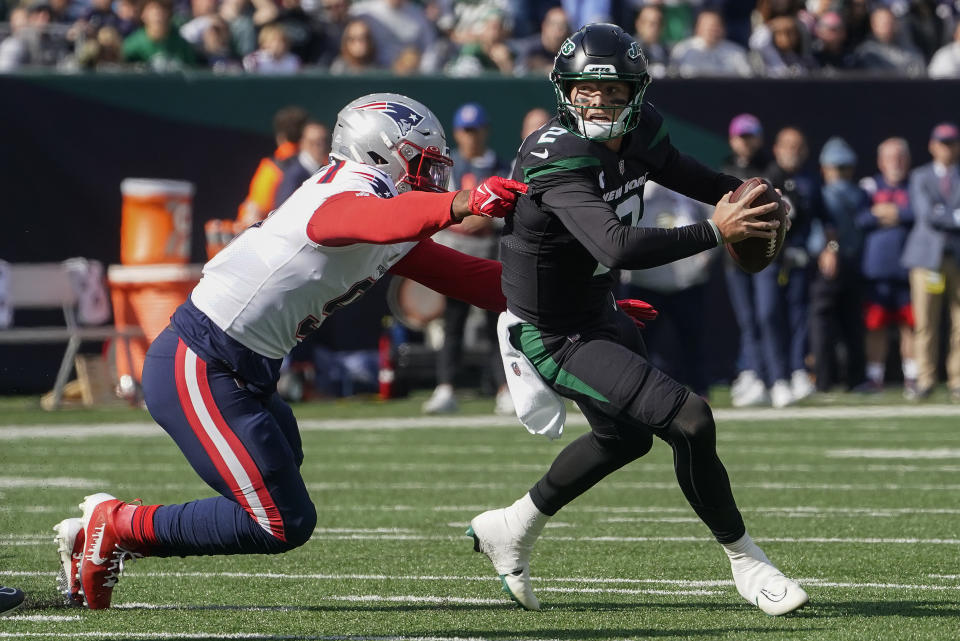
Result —
[[598, 330], [570, 336], [524, 323], [511, 335], [550, 386], [577, 403], [591, 428], [560, 452], [530, 490], [534, 504], [555, 514], [646, 454], [657, 436], [673, 449], [677, 482], [697, 515], [718, 541], [737, 540], [745, 531], [743, 519], [717, 456], [709, 405], [650, 364], [630, 318], [611, 306], [606, 321]]

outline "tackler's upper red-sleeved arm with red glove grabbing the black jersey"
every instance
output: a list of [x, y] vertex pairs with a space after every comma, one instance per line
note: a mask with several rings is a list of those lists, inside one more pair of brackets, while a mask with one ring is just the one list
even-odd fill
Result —
[[524, 191], [522, 183], [492, 176], [472, 190], [442, 194], [410, 191], [377, 198], [365, 191], [344, 192], [317, 208], [307, 236], [325, 247], [422, 240], [467, 216], [502, 218]]

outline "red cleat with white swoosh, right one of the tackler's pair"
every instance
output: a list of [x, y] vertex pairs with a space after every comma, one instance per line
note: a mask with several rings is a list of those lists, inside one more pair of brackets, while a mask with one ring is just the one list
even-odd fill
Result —
[[91, 610], [110, 607], [124, 561], [143, 556], [141, 546], [131, 545], [120, 535], [121, 528], [130, 530], [130, 519], [137, 507], [103, 492], [85, 497], [80, 504], [85, 535], [80, 585]]

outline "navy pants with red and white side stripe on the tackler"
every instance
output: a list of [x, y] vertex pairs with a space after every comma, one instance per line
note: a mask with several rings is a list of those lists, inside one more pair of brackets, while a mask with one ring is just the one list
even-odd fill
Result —
[[154, 514], [155, 556], [269, 554], [305, 543], [316, 526], [296, 419], [276, 393], [255, 394], [206, 363], [168, 328], [143, 368], [154, 420], [220, 496]]

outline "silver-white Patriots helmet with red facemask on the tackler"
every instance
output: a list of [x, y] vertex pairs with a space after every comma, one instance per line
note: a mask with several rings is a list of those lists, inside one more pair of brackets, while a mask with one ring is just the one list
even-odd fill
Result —
[[373, 165], [397, 191], [447, 191], [453, 160], [443, 125], [422, 103], [372, 93], [337, 114], [330, 155]]

